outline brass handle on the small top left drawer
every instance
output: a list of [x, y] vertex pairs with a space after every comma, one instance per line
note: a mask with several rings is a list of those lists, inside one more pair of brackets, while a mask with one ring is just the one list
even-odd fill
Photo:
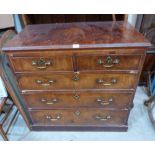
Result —
[[33, 60], [32, 65], [36, 66], [38, 69], [46, 69], [47, 66], [52, 65], [52, 61], [51, 60], [44, 60], [44, 59]]

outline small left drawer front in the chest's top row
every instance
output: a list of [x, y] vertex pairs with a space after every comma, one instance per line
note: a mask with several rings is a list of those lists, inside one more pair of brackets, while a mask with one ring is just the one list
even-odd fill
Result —
[[11, 62], [15, 72], [73, 70], [71, 56], [12, 57]]

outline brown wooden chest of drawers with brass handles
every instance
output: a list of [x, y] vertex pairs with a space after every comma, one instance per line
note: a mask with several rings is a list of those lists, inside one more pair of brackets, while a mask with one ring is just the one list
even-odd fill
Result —
[[30, 25], [3, 52], [31, 130], [126, 131], [149, 42], [126, 22]]

